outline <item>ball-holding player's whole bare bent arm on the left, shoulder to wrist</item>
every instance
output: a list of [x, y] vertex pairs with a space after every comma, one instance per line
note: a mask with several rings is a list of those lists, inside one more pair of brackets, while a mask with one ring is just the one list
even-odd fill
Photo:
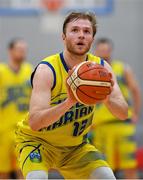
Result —
[[33, 90], [30, 100], [29, 124], [33, 130], [48, 127], [68, 111], [76, 100], [70, 96], [61, 104], [51, 107], [51, 88], [53, 73], [47, 65], [39, 65], [33, 79]]

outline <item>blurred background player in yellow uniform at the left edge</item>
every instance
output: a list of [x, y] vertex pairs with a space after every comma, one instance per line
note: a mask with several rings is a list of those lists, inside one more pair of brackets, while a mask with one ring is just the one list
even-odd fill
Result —
[[0, 64], [0, 179], [16, 171], [14, 137], [17, 122], [25, 116], [30, 98], [31, 65], [24, 63], [27, 44], [14, 39], [8, 45], [8, 64]]

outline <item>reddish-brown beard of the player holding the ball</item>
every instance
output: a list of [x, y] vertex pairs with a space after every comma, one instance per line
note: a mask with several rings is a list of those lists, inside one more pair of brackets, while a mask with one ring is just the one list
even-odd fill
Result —
[[67, 43], [67, 50], [74, 55], [78, 55], [78, 56], [83, 56], [85, 55], [89, 50], [90, 50], [90, 44], [88, 44], [87, 46], [84, 46], [82, 48], [78, 47], [76, 48], [75, 45], [72, 45], [70, 43]]

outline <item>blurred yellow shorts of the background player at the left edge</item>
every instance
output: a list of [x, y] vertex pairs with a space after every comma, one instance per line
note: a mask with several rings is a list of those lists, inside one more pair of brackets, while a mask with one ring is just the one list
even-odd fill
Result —
[[0, 172], [9, 173], [16, 170], [14, 132], [0, 133]]

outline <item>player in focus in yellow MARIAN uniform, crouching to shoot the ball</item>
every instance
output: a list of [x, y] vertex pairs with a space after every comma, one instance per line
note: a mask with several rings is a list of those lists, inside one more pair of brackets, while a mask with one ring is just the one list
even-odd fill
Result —
[[[87, 142], [94, 107], [78, 103], [66, 88], [69, 69], [86, 60], [112, 73], [104, 60], [87, 53], [95, 33], [93, 14], [70, 13], [63, 24], [64, 51], [45, 58], [32, 75], [29, 115], [17, 130], [19, 162], [26, 179], [47, 179], [50, 168], [67, 179], [115, 179], [102, 154]], [[114, 74], [113, 81], [113, 91], [104, 103], [124, 120], [128, 106]]]

